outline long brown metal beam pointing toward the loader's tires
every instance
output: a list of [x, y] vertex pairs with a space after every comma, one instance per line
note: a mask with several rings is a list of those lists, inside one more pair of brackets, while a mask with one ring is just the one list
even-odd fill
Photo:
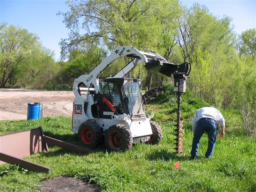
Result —
[[57, 140], [57, 139], [54, 139], [54, 138], [51, 138], [51, 137], [48, 137], [45, 135], [43, 135], [43, 140], [45, 142], [47, 142], [48, 144], [62, 147], [62, 148], [68, 149], [70, 151], [80, 152], [80, 153], [84, 153], [84, 154], [88, 154], [88, 153], [92, 152], [88, 149], [85, 149], [85, 148], [82, 148], [82, 147], [79, 147], [79, 146], [76, 146], [76, 145], [73, 145], [70, 143], [66, 143], [64, 141]]

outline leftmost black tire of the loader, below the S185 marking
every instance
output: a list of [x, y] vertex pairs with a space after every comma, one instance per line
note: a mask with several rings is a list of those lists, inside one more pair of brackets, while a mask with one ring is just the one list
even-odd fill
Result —
[[84, 122], [78, 129], [78, 140], [86, 146], [96, 147], [102, 142], [102, 130], [95, 122]]

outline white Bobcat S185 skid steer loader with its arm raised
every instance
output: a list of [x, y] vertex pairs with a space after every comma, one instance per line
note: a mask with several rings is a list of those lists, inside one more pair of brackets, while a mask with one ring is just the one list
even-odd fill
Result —
[[[116, 75], [98, 77], [120, 57], [132, 60]], [[148, 70], [170, 77], [175, 71], [175, 74], [188, 71], [186, 63], [170, 63], [152, 51], [146, 53], [129, 46], [116, 48], [90, 74], [74, 80], [72, 131], [84, 144], [96, 147], [104, 138], [108, 150], [125, 151], [138, 142], [158, 144], [162, 140], [161, 127], [150, 121], [154, 114], [149, 116], [143, 108], [142, 80], [124, 78], [141, 63]]]

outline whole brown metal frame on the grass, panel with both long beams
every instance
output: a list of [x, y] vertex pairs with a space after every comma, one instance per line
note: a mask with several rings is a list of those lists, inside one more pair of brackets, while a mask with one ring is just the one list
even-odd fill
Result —
[[42, 127], [39, 127], [37, 129], [1, 135], [0, 160], [2, 161], [0, 161], [0, 164], [7, 162], [32, 171], [50, 172], [50, 168], [21, 159], [31, 154], [42, 152], [42, 150], [48, 151], [47, 142], [70, 151], [84, 154], [92, 152], [85, 148], [45, 136]]

